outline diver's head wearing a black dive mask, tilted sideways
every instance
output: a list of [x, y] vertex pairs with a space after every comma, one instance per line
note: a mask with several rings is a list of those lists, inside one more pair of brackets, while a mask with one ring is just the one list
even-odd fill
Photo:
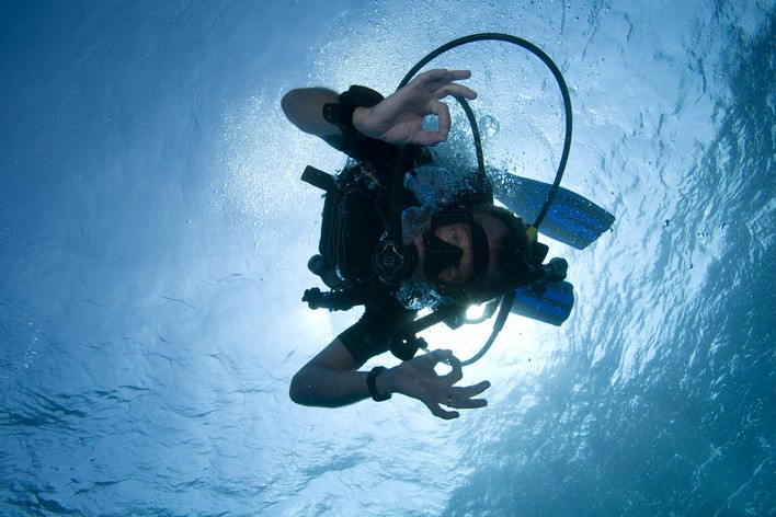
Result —
[[481, 301], [500, 283], [527, 277], [527, 228], [494, 205], [444, 209], [413, 239], [419, 268], [440, 294]]

